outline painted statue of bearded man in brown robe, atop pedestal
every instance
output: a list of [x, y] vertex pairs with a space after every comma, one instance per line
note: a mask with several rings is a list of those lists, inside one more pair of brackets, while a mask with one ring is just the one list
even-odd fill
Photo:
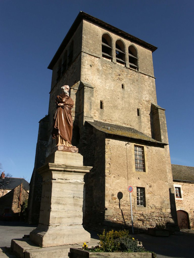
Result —
[[56, 97], [56, 108], [53, 119], [53, 139], [56, 139], [56, 146], [62, 145], [67, 147], [75, 147], [71, 145], [73, 121], [71, 109], [74, 102], [69, 97], [69, 86], [61, 87], [62, 94]]

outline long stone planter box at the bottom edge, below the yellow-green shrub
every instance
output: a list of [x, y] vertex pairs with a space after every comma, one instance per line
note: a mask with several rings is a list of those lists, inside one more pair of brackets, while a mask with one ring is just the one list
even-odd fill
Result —
[[102, 252], [89, 252], [82, 249], [70, 248], [68, 254], [70, 258], [155, 258], [155, 253], [126, 253], [126, 252], [112, 252], [112, 253], [102, 253]]

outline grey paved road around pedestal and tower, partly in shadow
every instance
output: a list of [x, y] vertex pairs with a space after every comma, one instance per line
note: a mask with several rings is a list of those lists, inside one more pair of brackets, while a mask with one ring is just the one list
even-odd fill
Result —
[[[10, 247], [12, 238], [22, 238], [34, 228], [36, 225], [0, 221], [0, 247]], [[146, 234], [134, 234], [133, 237], [142, 241], [145, 249], [155, 252], [157, 258], [194, 258], [194, 231], [188, 230], [188, 232], [169, 237], [153, 237]], [[94, 231], [90, 233], [93, 238], [91, 244], [96, 245], [99, 239], [97, 233]]]

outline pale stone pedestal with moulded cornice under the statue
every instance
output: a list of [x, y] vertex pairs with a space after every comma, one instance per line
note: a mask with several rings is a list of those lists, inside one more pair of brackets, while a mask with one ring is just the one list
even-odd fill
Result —
[[59, 150], [46, 163], [38, 169], [43, 178], [40, 218], [30, 240], [41, 247], [90, 241], [82, 211], [84, 175], [92, 167], [83, 166], [81, 154]]

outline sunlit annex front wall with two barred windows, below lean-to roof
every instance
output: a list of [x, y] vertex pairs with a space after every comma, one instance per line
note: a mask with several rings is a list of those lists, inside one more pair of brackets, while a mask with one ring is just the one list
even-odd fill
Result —
[[[125, 145], [126, 144], [126, 145]], [[145, 151], [146, 172], [135, 170], [134, 144]], [[174, 227], [176, 217], [171, 214], [169, 183], [163, 147], [148, 146], [124, 140], [106, 139], [106, 183], [104, 225], [111, 227], [131, 226], [128, 185], [133, 186], [132, 210], [135, 231], [152, 228], [156, 223]], [[145, 188], [146, 207], [137, 206], [137, 187]], [[170, 189], [173, 191], [173, 189]], [[122, 192], [123, 198], [117, 195]]]

